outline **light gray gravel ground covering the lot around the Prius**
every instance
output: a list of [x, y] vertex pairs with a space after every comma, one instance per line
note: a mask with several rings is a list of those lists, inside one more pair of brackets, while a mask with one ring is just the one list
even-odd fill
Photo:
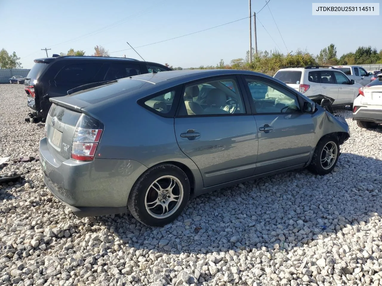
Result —
[[[38, 156], [23, 86], [0, 85], [0, 157]], [[163, 228], [79, 219], [39, 162], [0, 165], [0, 285], [382, 285], [382, 128], [350, 124], [334, 172], [306, 170], [193, 199]]]

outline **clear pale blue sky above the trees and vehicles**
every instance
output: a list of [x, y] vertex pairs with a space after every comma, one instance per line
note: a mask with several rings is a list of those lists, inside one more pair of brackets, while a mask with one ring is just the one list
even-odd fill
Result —
[[[361, 1], [346, 1], [349, 2]], [[264, 4], [265, 0], [253, 0], [252, 12]], [[376, 31], [376, 23], [382, 22], [381, 15], [312, 16], [312, 1], [306, 0], [271, 0], [268, 5], [288, 51], [301, 48], [316, 55], [330, 43], [337, 47], [338, 56], [359, 45], [382, 49], [382, 37], [372, 32]], [[46, 56], [41, 48], [51, 48], [49, 56], [70, 48], [91, 55], [95, 45], [102, 45], [109, 52], [119, 51], [129, 48], [126, 41], [138, 47], [235, 21], [248, 13], [248, 0], [34, 0], [28, 5], [0, 0], [0, 48], [15, 51], [23, 67], [31, 68], [35, 58]], [[274, 39], [257, 21], [258, 50], [276, 48], [286, 53], [268, 7], [257, 16]], [[245, 58], [247, 50], [249, 19], [137, 48], [147, 61], [181, 67], [216, 65], [220, 59], [229, 63], [231, 59]], [[133, 50], [110, 53], [123, 55], [139, 58]]]

